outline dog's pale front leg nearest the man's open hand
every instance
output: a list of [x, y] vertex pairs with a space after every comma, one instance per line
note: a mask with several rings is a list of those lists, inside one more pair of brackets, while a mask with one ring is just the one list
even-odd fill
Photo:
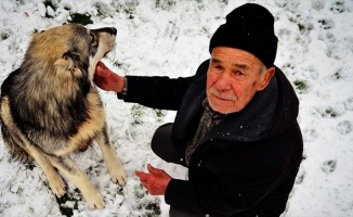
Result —
[[96, 138], [96, 143], [100, 145], [103, 154], [104, 162], [106, 163], [110, 179], [114, 183], [119, 183], [120, 186], [126, 184], [127, 175], [121, 165], [114, 145], [112, 144], [108, 133], [107, 133], [107, 125], [105, 124], [100, 135]]

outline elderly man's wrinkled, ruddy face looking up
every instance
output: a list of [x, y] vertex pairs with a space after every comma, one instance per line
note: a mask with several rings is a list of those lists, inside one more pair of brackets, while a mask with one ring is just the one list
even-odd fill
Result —
[[210, 106], [222, 114], [241, 111], [274, 74], [274, 67], [263, 73], [261, 67], [261, 61], [247, 51], [215, 47], [207, 72]]

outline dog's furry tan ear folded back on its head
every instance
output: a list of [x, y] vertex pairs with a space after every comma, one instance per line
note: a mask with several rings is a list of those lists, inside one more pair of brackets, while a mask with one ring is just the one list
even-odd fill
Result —
[[77, 52], [68, 51], [63, 54], [61, 59], [55, 61], [54, 65], [56, 68], [56, 73], [63, 75], [74, 75], [81, 76], [82, 73], [79, 67], [77, 67], [77, 63], [80, 61], [80, 54]]

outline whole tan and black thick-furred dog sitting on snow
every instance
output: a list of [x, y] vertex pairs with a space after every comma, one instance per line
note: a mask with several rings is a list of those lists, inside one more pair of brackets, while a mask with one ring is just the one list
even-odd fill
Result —
[[114, 182], [126, 174], [109, 141], [105, 112], [93, 84], [96, 63], [115, 44], [116, 29], [66, 24], [37, 33], [21, 67], [1, 86], [0, 122], [5, 145], [17, 159], [35, 159], [52, 191], [65, 183], [57, 168], [81, 191], [91, 208], [104, 208], [102, 194], [69, 154], [96, 140]]

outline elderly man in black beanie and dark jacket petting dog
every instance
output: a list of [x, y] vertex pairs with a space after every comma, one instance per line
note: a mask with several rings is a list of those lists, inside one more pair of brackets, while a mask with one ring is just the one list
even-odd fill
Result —
[[120, 77], [99, 63], [95, 82], [126, 102], [178, 111], [160, 126], [153, 151], [188, 168], [178, 180], [147, 165], [136, 171], [170, 216], [279, 216], [302, 158], [298, 98], [274, 66], [274, 17], [244, 4], [211, 38], [210, 60], [192, 77]]

